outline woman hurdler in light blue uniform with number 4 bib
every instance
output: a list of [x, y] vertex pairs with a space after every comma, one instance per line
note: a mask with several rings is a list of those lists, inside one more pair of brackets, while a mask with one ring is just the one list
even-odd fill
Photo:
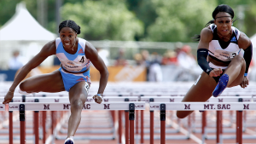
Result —
[[73, 20], [62, 21], [59, 25], [60, 37], [44, 45], [15, 78], [14, 83], [5, 95], [3, 104], [9, 103], [14, 97], [14, 91], [28, 72], [39, 66], [48, 56], [57, 55], [61, 67], [55, 72], [27, 78], [20, 84], [20, 90], [26, 93], [69, 92], [71, 115], [68, 120], [67, 140], [65, 144], [73, 144], [73, 136], [79, 127], [82, 107], [90, 88], [90, 62], [101, 73], [98, 94], [94, 95], [96, 103], [102, 103], [102, 94], [108, 83], [108, 69], [98, 55], [94, 46], [86, 40], [77, 37], [80, 27]]

